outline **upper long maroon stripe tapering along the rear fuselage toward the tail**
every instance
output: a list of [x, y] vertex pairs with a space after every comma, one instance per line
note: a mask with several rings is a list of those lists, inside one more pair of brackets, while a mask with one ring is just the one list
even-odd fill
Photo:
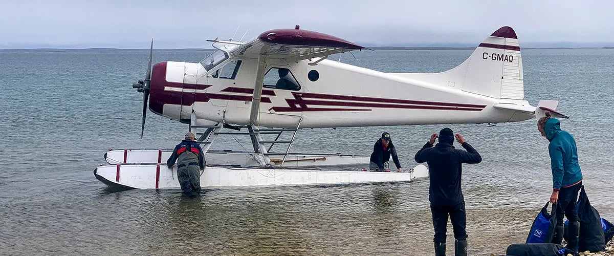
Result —
[[486, 105], [463, 104], [463, 103], [441, 103], [437, 101], [412, 101], [406, 99], [386, 99], [386, 98], [371, 98], [362, 96], [346, 96], [346, 95], [327, 95], [322, 93], [300, 93], [293, 92], [295, 98], [316, 98], [316, 99], [337, 99], [343, 101], [372, 101], [377, 103], [398, 103], [398, 104], [415, 104], [415, 105], [432, 105], [432, 106], [449, 106], [449, 107], [481, 107]]

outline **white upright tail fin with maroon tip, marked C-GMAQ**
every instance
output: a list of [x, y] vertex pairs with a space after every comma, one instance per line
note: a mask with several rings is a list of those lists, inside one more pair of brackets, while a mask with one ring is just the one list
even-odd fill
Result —
[[523, 59], [514, 29], [503, 26], [486, 37], [467, 60], [437, 74], [399, 74], [503, 99], [523, 99]]

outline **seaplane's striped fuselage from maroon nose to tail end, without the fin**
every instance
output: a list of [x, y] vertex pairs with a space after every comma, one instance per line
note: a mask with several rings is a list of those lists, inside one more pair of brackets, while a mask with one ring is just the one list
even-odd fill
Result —
[[[276, 61], [277, 62], [277, 61]], [[280, 128], [498, 123], [522, 121], [492, 107], [502, 99], [408, 77], [323, 60], [267, 63], [286, 68], [298, 90], [263, 88], [258, 125]], [[209, 76], [200, 63], [163, 62], [153, 66], [150, 110], [173, 120], [197, 118], [249, 124], [257, 60], [242, 60], [235, 79]], [[316, 81], [309, 72], [316, 71]]]

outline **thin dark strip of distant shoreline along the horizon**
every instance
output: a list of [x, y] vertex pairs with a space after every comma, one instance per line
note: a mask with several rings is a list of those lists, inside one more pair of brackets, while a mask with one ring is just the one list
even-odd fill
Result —
[[[440, 47], [440, 46], [420, 46], [420, 47], [397, 47], [397, 46], [373, 46], [367, 47], [371, 50], [474, 50], [476, 47]], [[605, 47], [521, 47], [522, 50], [532, 49], [614, 49], [614, 46]], [[149, 49], [139, 48], [21, 48], [21, 49], [0, 49], [0, 52], [128, 52], [128, 51], [147, 51]], [[173, 51], [193, 51], [193, 50], [214, 50], [213, 48], [179, 48], [179, 49], [155, 49]]]

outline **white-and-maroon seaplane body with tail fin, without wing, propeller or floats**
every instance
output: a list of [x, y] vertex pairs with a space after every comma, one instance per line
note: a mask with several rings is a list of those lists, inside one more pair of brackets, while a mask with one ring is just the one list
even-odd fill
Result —
[[[267, 33], [260, 38], [274, 34]], [[534, 117], [494, 107], [530, 107], [523, 99], [518, 40], [509, 27], [487, 37], [464, 63], [437, 74], [385, 73], [320, 58], [233, 56], [232, 47], [239, 48], [229, 45], [200, 63], [155, 64], [150, 110], [182, 122], [193, 112], [198, 120], [278, 128], [299, 123], [300, 128], [500, 123]], [[257, 84], [259, 71], [263, 82]], [[262, 95], [254, 93], [260, 86]], [[251, 122], [254, 102], [257, 117]]]

